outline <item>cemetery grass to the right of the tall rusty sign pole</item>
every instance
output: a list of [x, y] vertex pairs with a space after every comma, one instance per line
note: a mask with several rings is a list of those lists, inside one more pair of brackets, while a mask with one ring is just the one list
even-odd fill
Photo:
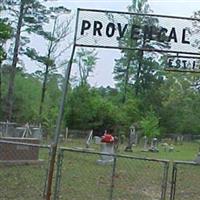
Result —
[[[67, 147], [82, 147], [84, 141], [70, 140], [66, 144], [62, 144]], [[133, 152], [124, 152], [125, 145], [121, 145], [118, 149], [119, 154], [128, 154], [136, 157], [148, 157], [157, 159], [167, 159], [171, 162], [174, 160], [192, 161], [198, 151], [197, 143], [184, 143], [183, 145], [176, 145], [174, 152], [165, 152], [162, 146], [159, 146], [159, 153], [142, 152], [142, 146], [133, 147]], [[90, 148], [99, 151], [99, 145], [91, 144]], [[87, 155], [81, 153], [65, 152], [62, 182], [61, 182], [61, 199], [108, 199], [111, 191], [111, 172], [112, 166], [99, 166], [96, 164], [98, 156]], [[126, 200], [126, 199], [138, 199], [138, 200], [156, 200], [160, 199], [161, 184], [163, 177], [163, 164], [150, 161], [139, 161], [131, 159], [119, 159], [117, 161], [117, 168], [114, 179], [114, 192], [113, 199]], [[182, 166], [181, 166], [182, 167]], [[176, 199], [190, 199], [193, 195], [193, 200], [199, 198], [200, 192], [197, 192], [196, 185], [199, 182], [198, 167], [191, 167], [181, 169], [178, 171], [178, 192]], [[171, 172], [169, 170], [168, 187], [171, 183]], [[180, 175], [179, 175], [180, 173]], [[180, 179], [184, 175], [184, 179]], [[73, 176], [74, 175], [74, 176]], [[194, 189], [187, 187], [188, 179], [192, 177], [192, 183]], [[180, 179], [180, 180], [179, 180]], [[188, 195], [182, 195], [179, 191], [181, 188], [187, 189]], [[190, 190], [188, 189], [190, 188]], [[196, 188], [196, 189], [195, 189]], [[65, 196], [64, 194], [67, 194]], [[94, 198], [95, 197], [95, 198]], [[169, 188], [167, 198], [169, 199]]]

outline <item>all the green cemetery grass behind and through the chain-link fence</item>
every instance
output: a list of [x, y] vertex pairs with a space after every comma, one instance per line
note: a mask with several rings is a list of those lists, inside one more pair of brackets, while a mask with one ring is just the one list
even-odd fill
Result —
[[[85, 148], [85, 141], [72, 139], [61, 146]], [[159, 146], [159, 153], [142, 152], [142, 145], [133, 147], [133, 152], [124, 152], [125, 145], [118, 148], [119, 154], [136, 157], [148, 157], [192, 161], [198, 152], [197, 143], [176, 145], [174, 152], [165, 152]], [[99, 145], [90, 148], [99, 151]], [[1, 166], [0, 199], [1, 200], [35, 200], [42, 199], [48, 153], [40, 151], [42, 165]], [[63, 200], [106, 200], [113, 189], [113, 200], [158, 200], [161, 195], [163, 163], [118, 158], [112, 187], [112, 165], [98, 165], [99, 155], [88, 153], [64, 152], [60, 199]], [[176, 200], [198, 200], [200, 169], [197, 166], [179, 166], [177, 176]], [[169, 171], [168, 188], [171, 182]], [[169, 199], [169, 190], [166, 200]]]

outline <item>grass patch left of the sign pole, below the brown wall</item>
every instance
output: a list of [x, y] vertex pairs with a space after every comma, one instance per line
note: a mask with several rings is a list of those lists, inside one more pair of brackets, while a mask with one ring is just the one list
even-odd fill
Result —
[[0, 200], [42, 199], [48, 149], [41, 149], [38, 164], [0, 165]]

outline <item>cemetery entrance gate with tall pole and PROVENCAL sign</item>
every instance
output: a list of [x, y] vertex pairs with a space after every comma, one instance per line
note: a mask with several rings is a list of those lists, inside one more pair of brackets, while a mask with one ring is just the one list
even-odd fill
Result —
[[51, 196], [60, 126], [76, 48], [137, 52], [142, 58], [154, 58], [157, 61], [162, 58], [165, 69], [169, 71], [199, 72], [199, 23], [199, 19], [187, 17], [78, 9], [74, 44], [65, 74], [55, 139], [52, 144], [46, 199], [50, 200]]

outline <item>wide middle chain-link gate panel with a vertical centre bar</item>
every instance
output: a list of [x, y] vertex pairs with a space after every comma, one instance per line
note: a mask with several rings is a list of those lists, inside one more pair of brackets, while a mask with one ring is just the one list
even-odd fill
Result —
[[[113, 161], [101, 164], [103, 155]], [[54, 199], [164, 200], [168, 164], [165, 160], [62, 148]]]

